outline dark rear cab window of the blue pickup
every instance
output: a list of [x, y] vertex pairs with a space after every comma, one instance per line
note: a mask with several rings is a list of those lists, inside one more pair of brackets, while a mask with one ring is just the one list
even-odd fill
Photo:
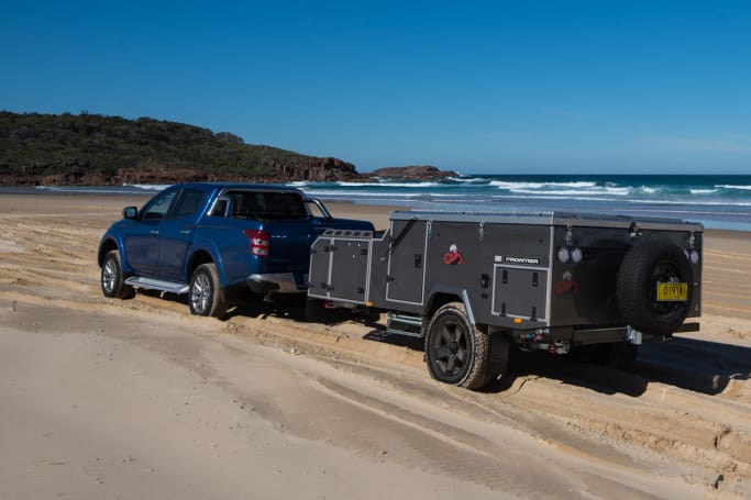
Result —
[[302, 197], [295, 192], [228, 191], [225, 213], [235, 219], [306, 219], [308, 210]]

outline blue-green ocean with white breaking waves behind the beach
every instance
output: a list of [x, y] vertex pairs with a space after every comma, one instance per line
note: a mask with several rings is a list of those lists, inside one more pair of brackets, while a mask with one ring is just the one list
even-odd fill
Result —
[[[322, 200], [456, 211], [568, 211], [661, 216], [751, 231], [751, 175], [462, 175], [442, 180], [291, 182]], [[164, 186], [38, 187], [136, 193]], [[0, 191], [2, 192], [2, 191]]]

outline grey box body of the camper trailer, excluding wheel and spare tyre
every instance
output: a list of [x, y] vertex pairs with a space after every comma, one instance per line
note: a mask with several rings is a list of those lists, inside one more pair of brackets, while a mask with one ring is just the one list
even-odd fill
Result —
[[[703, 226], [697, 223], [568, 212], [396, 211], [385, 232], [333, 233], [313, 248], [355, 252], [313, 253], [310, 297], [423, 319], [457, 301], [473, 324], [489, 332], [540, 330], [568, 341], [606, 332], [626, 338], [629, 324], [618, 299], [621, 264], [637, 245], [670, 245], [688, 262], [685, 316], [700, 315]], [[367, 257], [357, 254], [361, 248]], [[324, 293], [319, 281], [332, 289]]]

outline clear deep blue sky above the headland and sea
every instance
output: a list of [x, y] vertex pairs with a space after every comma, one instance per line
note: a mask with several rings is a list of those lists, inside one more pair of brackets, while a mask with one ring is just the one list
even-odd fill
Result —
[[360, 171], [748, 174], [750, 26], [742, 1], [5, 2], [0, 109]]

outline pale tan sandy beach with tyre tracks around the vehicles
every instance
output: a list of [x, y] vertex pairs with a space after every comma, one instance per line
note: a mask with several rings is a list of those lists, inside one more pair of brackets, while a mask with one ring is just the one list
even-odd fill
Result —
[[472, 392], [374, 324], [106, 299], [99, 238], [145, 200], [0, 195], [0, 499], [751, 498], [751, 233], [705, 233], [699, 332]]

